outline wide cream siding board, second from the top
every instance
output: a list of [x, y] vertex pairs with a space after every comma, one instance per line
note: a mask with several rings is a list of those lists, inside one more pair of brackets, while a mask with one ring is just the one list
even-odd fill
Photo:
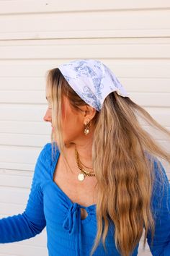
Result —
[[164, 12], [162, 9], [138, 9], [135, 12], [121, 9], [106, 12], [97, 10], [6, 14], [0, 17], [0, 38], [9, 40], [167, 36], [170, 32], [169, 14], [169, 9], [164, 9]]

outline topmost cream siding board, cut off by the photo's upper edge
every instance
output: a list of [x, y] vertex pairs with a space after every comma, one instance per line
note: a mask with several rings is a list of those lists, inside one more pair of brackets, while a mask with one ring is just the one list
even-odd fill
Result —
[[[18, 8], [19, 6], [19, 8]], [[86, 11], [107, 11], [107, 10], [130, 10], [130, 9], [167, 9], [170, 7], [169, 0], [143, 0], [125, 2], [120, 1], [91, 1], [74, 0], [68, 4], [67, 0], [63, 1], [15, 1], [9, 4], [6, 0], [0, 2], [0, 14], [30, 14], [30, 13], [49, 13], [49, 12], [86, 12]]]

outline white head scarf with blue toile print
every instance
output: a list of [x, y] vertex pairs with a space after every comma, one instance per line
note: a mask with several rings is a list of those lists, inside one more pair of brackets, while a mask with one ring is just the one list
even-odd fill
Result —
[[61, 64], [58, 69], [82, 100], [97, 111], [101, 110], [104, 99], [113, 91], [128, 97], [115, 74], [101, 61], [80, 59]]

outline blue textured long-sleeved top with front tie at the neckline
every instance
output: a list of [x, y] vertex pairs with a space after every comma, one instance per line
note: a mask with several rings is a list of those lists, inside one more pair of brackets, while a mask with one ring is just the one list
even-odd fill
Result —
[[[1, 218], [0, 243], [29, 239], [40, 234], [46, 226], [49, 256], [89, 256], [97, 233], [96, 205], [84, 207], [71, 202], [69, 197], [53, 182], [59, 155], [57, 151], [55, 159], [51, 158], [50, 143], [42, 149], [35, 166], [32, 187], [24, 213]], [[156, 168], [155, 162], [155, 171]], [[165, 189], [161, 208], [158, 207], [158, 199], [161, 195], [158, 182], [154, 186], [152, 200], [153, 213], [156, 218], [153, 247], [151, 247], [150, 231], [147, 236], [147, 242], [155, 256], [170, 255], [170, 197], [168, 197], [170, 186], [164, 168], [163, 171]], [[81, 220], [80, 208], [86, 209], [88, 213], [83, 220]], [[114, 226], [110, 225], [106, 239], [107, 253], [100, 242], [94, 252], [95, 256], [120, 255], [115, 247], [113, 235]], [[138, 255], [138, 246], [132, 255]]]

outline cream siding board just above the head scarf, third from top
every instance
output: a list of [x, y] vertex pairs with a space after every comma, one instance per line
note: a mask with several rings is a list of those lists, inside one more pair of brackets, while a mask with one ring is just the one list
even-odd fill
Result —
[[[169, 12], [170, 16], [170, 12]], [[114, 39], [112, 39], [113, 42]], [[84, 45], [86, 58], [106, 59], [169, 59], [170, 43], [141, 44], [135, 43], [97, 43]], [[141, 51], [141, 48], [143, 51]], [[15, 49], [15, 50], [14, 50]], [[52, 45], [48, 46], [1, 46], [1, 59], [76, 59], [83, 56], [82, 45]]]

